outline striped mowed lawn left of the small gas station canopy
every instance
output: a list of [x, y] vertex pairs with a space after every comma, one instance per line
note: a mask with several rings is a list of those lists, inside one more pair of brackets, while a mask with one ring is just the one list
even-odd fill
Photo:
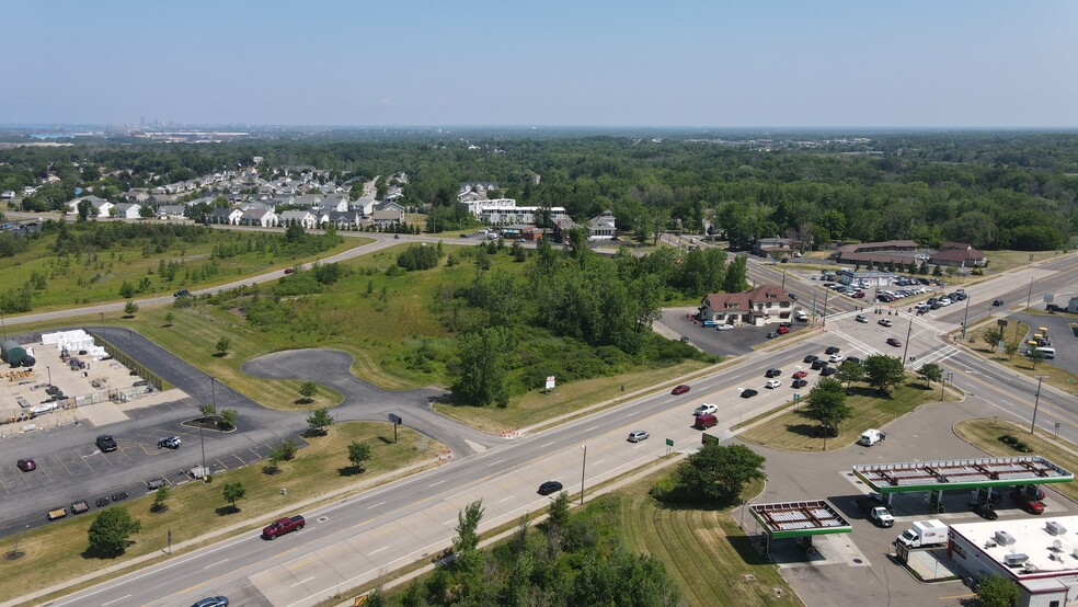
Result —
[[[617, 491], [626, 543], [663, 561], [688, 605], [803, 605], [778, 569], [767, 563], [737, 526], [737, 509], [667, 508], [647, 490], [663, 470]], [[759, 493], [759, 484], [744, 492]]]

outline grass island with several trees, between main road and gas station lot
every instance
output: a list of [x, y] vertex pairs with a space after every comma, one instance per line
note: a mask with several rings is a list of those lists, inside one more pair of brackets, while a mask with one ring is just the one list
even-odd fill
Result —
[[[804, 408], [798, 405], [791, 405], [785, 413], [745, 431], [738, 435], [738, 438], [793, 451], [823, 450], [825, 445], [830, 449], [841, 449], [852, 445], [865, 428], [883, 427], [925, 403], [939, 401], [939, 385], [933, 386], [934, 388], [928, 388], [924, 381], [907, 380], [904, 386], [892, 392], [888, 399], [880, 398], [874, 388], [855, 383], [846, 401], [853, 409], [853, 416], [842, 422], [838, 436], [827, 437], [826, 440], [817, 434], [819, 423], [810, 417]], [[944, 396], [947, 400], [952, 398], [951, 394]], [[735, 428], [747, 427], [773, 414], [772, 411], [759, 415], [738, 424]]]

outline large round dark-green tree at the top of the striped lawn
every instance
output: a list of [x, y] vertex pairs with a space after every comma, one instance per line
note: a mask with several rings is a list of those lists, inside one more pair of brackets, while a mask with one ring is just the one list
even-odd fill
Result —
[[764, 480], [764, 457], [743, 445], [708, 443], [678, 466], [678, 488], [692, 500], [730, 504], [745, 483]]

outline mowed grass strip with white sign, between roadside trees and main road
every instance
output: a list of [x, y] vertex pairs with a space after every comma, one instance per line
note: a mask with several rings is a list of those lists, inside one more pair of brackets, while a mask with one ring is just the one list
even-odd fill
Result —
[[[496, 433], [539, 424], [589, 404], [669, 381], [670, 378], [690, 374], [707, 366], [707, 363], [699, 360], [687, 360], [680, 365], [661, 369], [647, 369], [617, 377], [584, 379], [559, 386], [549, 394], [544, 394], [542, 390], [532, 390], [519, 399], [514, 399], [505, 409], [455, 406], [445, 402], [436, 402], [434, 410], [472, 427]], [[622, 387], [624, 387], [624, 391], [622, 391]]]

